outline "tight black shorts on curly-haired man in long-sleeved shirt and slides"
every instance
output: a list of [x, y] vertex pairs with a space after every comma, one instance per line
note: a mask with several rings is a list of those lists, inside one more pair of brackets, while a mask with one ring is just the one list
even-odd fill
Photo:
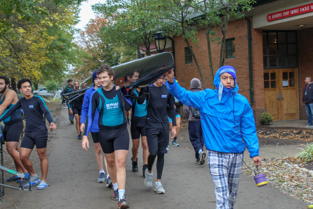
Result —
[[42, 149], [47, 147], [48, 141], [48, 130], [40, 131], [26, 131], [21, 143], [21, 147], [27, 149], [33, 149], [36, 145], [37, 149]]

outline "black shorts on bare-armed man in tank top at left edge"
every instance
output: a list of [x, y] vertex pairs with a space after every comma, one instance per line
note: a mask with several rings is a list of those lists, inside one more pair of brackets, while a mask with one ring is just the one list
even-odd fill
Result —
[[3, 134], [7, 142], [19, 142], [19, 138], [23, 131], [23, 119], [18, 118], [5, 123]]

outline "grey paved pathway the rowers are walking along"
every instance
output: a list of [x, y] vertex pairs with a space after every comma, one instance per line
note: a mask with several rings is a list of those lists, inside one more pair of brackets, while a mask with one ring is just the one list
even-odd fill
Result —
[[[99, 175], [94, 157], [94, 146], [81, 148], [74, 125], [67, 120], [67, 109], [58, 109], [57, 129], [49, 141], [50, 185], [44, 190], [18, 191], [6, 188], [0, 208], [117, 208], [118, 201], [112, 200], [112, 189], [97, 183]], [[129, 128], [129, 127], [128, 127]], [[131, 172], [131, 152], [126, 161], [126, 199], [131, 208], [215, 208], [214, 185], [208, 165], [196, 165], [194, 151], [188, 139], [188, 131], [182, 129], [178, 137], [179, 147], [169, 148], [165, 156], [162, 184], [166, 191], [159, 195], [144, 185], [141, 172]], [[131, 143], [130, 143], [131, 148]], [[290, 148], [290, 149], [289, 149]], [[295, 154], [291, 146], [261, 148], [261, 158], [279, 158]], [[139, 168], [142, 150], [139, 150]], [[38, 159], [35, 152], [32, 159]], [[249, 154], [245, 154], [247, 163]], [[35, 161], [35, 160], [34, 160]], [[37, 160], [38, 162], [38, 160]], [[35, 170], [40, 174], [38, 163]], [[141, 169], [140, 169], [141, 171]], [[156, 179], [156, 168], [154, 179]], [[8, 177], [9, 175], [5, 175]], [[9, 185], [17, 185], [8, 182]], [[305, 202], [290, 197], [268, 185], [257, 187], [251, 176], [241, 175], [235, 208], [306, 208]]]

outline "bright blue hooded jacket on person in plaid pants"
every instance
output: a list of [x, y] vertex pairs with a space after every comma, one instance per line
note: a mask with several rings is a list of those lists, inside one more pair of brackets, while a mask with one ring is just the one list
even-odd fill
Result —
[[[220, 85], [219, 70], [215, 74], [214, 85], [217, 89]], [[206, 149], [243, 153], [246, 145], [251, 158], [259, 155], [259, 141], [252, 108], [247, 98], [237, 93], [239, 89], [237, 85], [235, 89], [224, 87], [220, 92], [220, 101], [218, 90], [187, 91], [179, 86], [175, 79], [173, 84], [167, 81], [167, 89], [183, 104], [199, 109]], [[245, 137], [242, 137], [236, 128]]]

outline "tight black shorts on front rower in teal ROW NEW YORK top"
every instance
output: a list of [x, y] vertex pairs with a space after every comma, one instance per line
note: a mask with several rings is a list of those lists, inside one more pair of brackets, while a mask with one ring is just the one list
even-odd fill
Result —
[[126, 123], [118, 126], [99, 125], [99, 142], [105, 154], [120, 149], [128, 150], [129, 134]]

